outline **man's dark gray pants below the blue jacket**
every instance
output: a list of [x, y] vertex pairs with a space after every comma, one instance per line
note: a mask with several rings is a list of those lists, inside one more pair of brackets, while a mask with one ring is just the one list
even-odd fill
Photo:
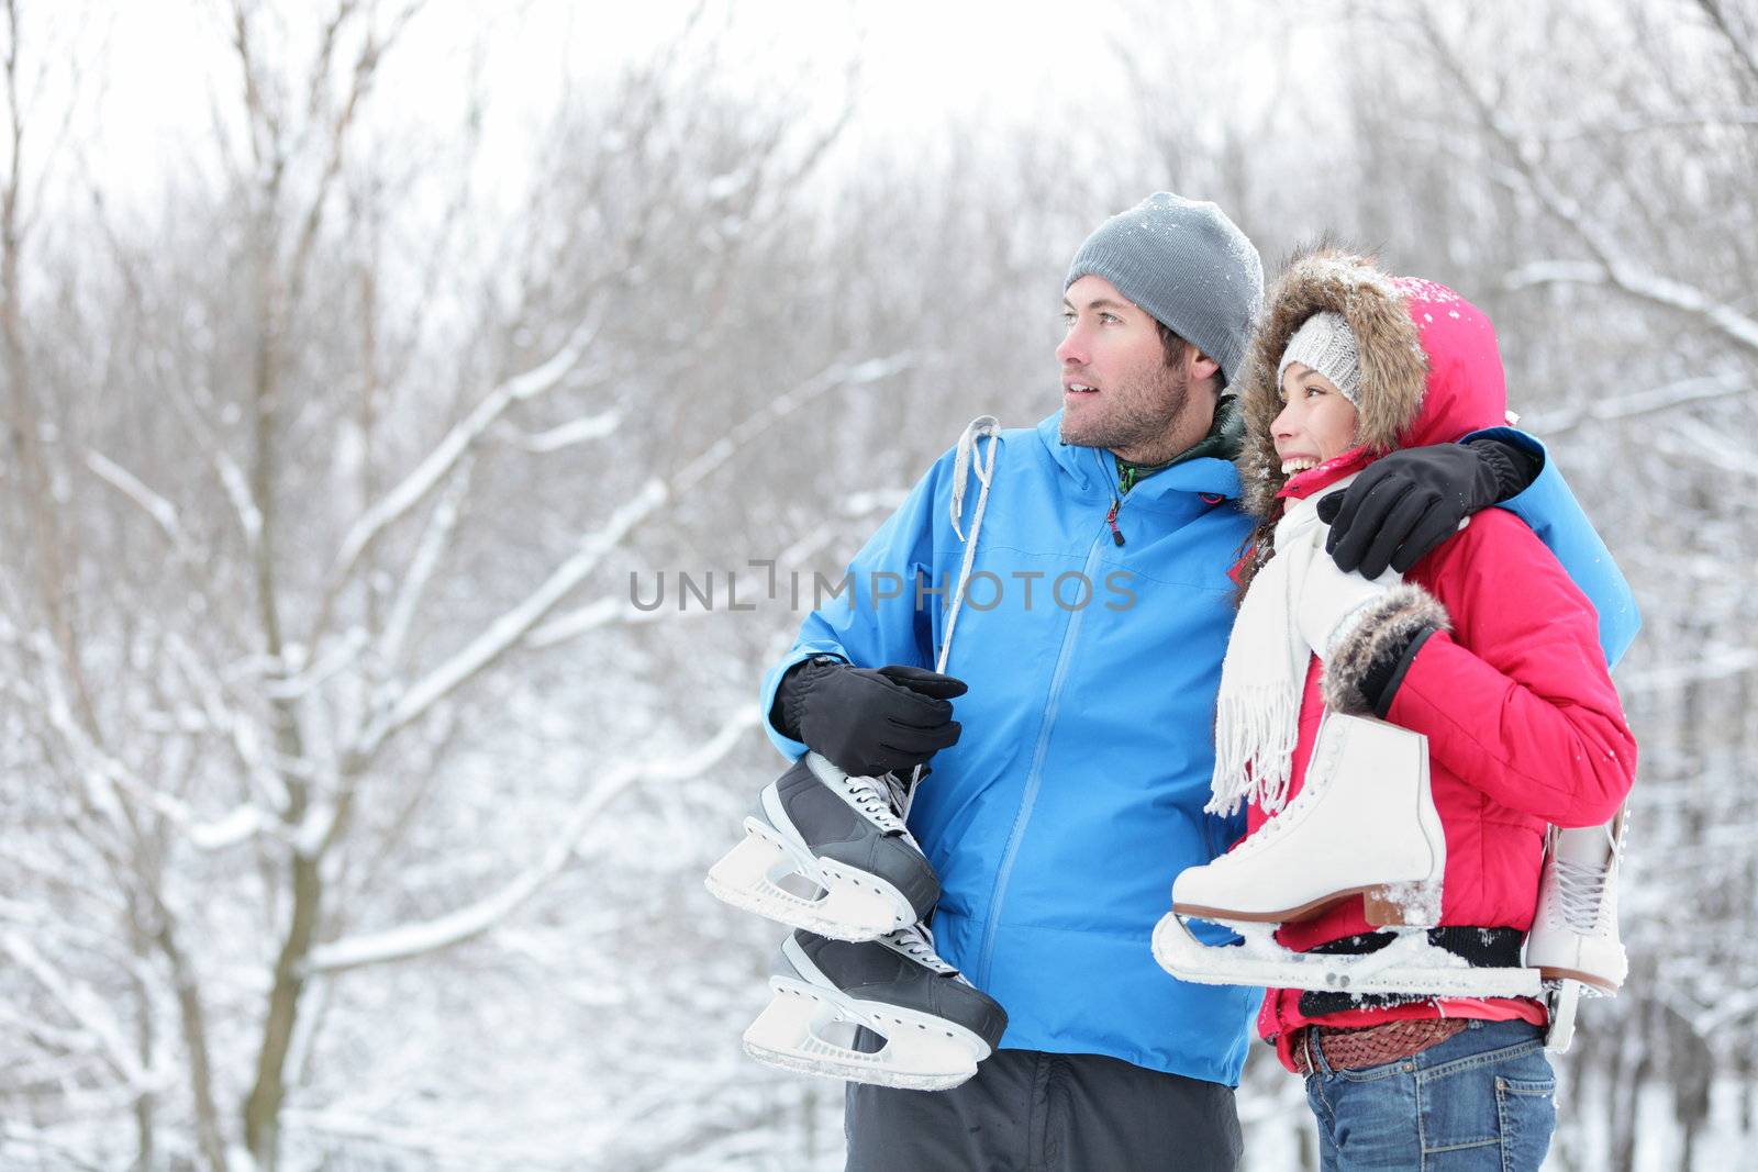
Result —
[[847, 1172], [1231, 1172], [1232, 1088], [1101, 1054], [995, 1051], [949, 1091], [851, 1082]]

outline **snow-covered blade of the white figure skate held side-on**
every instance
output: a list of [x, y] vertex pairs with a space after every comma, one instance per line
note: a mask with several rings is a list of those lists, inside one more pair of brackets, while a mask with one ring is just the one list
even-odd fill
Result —
[[1426, 933], [1398, 933], [1364, 956], [1294, 952], [1275, 942], [1273, 924], [1229, 922], [1241, 945], [1206, 945], [1176, 912], [1153, 928], [1153, 959], [1180, 980], [1262, 989], [1333, 993], [1426, 993], [1431, 996], [1540, 996], [1536, 968], [1471, 968], [1436, 949]]

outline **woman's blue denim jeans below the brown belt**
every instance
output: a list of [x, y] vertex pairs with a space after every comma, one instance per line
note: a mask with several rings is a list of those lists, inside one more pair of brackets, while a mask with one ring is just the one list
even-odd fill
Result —
[[1324, 1172], [1536, 1172], [1556, 1075], [1526, 1021], [1471, 1021], [1440, 1045], [1364, 1070], [1311, 1047], [1306, 1102]]

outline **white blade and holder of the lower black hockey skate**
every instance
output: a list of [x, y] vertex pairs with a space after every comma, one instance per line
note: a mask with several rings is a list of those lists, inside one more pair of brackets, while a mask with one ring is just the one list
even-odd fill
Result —
[[[990, 1054], [983, 1038], [942, 1017], [883, 1002], [856, 1002], [839, 989], [772, 977], [775, 998], [745, 1030], [745, 1053], [770, 1067], [905, 1091], [944, 1091], [977, 1072]], [[854, 1049], [854, 1030], [884, 1038], [872, 1054]]]

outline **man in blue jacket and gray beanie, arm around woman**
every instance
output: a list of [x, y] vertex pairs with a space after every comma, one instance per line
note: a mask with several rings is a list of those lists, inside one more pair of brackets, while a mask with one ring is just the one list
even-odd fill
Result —
[[[909, 824], [942, 884], [935, 947], [1007, 1010], [1002, 1047], [951, 1091], [849, 1086], [851, 1172], [1238, 1160], [1232, 1088], [1260, 993], [1178, 982], [1148, 938], [1171, 879], [1239, 833], [1202, 805], [1246, 534], [1224, 394], [1260, 297], [1257, 251], [1213, 204], [1157, 193], [1108, 220], [1065, 279], [1062, 411], [999, 439], [956, 680], [860, 671], [935, 662], [935, 590], [963, 555], [951, 453], [851, 564], [858, 589], [897, 575], [902, 596], [830, 601], [765, 680], [789, 757], [810, 747], [856, 775], [933, 757]], [[1338, 564], [1408, 568], [1517, 494], [1507, 506], [1621, 652], [1628, 589], [1556, 474], [1528, 487], [1536, 464], [1500, 430], [1380, 460], [1326, 510]], [[923, 692], [958, 696], [958, 720]]]

